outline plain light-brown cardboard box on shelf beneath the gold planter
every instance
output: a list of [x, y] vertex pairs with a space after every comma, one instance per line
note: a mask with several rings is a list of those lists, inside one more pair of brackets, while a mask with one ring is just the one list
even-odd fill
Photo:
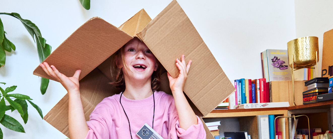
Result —
[[[304, 86], [305, 81], [295, 81], [295, 104], [303, 105], [303, 92], [307, 90]], [[271, 81], [270, 82], [270, 100], [271, 102], [289, 102], [294, 106], [292, 81]]]

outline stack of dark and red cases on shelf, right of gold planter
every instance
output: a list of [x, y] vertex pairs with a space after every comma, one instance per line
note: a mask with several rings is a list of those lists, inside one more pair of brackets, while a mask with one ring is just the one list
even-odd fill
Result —
[[317, 102], [317, 95], [328, 93], [329, 80], [327, 77], [318, 77], [305, 82], [308, 90], [304, 91], [303, 94], [303, 104], [315, 103]]

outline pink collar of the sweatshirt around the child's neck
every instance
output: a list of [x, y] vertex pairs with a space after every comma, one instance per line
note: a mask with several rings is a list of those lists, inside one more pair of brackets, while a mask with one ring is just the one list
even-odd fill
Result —
[[[120, 94], [117, 94], [117, 98], [118, 100], [120, 99], [120, 95], [123, 92], [121, 92]], [[158, 100], [158, 98], [160, 97], [160, 92], [154, 90], [154, 95], [155, 95], [155, 104], [156, 104], [156, 100]], [[130, 106], [130, 107], [142, 107], [142, 106], [147, 106], [147, 105], [151, 105], [154, 104], [154, 97], [153, 95], [149, 96], [148, 98], [145, 99], [141, 99], [141, 100], [131, 100], [128, 99], [124, 96], [124, 94], [122, 95], [122, 105], [123, 106]]]

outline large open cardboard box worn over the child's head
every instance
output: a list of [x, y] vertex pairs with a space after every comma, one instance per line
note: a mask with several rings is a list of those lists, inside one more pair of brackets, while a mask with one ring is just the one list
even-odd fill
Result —
[[[99, 102], [120, 93], [108, 84], [112, 80], [109, 57], [133, 37], [143, 40], [164, 66], [161, 90], [168, 94], [171, 91], [166, 71], [172, 77], [179, 74], [175, 59], [184, 54], [186, 62], [193, 61], [184, 93], [199, 117], [206, 116], [235, 91], [191, 21], [174, 0], [153, 20], [142, 9], [119, 28], [101, 18], [91, 18], [44, 60], [66, 76], [73, 76], [77, 69], [82, 70], [80, 93], [87, 121]], [[54, 80], [40, 66], [33, 74]], [[68, 94], [44, 120], [69, 136]], [[204, 127], [207, 138], [213, 138], [208, 128]]]

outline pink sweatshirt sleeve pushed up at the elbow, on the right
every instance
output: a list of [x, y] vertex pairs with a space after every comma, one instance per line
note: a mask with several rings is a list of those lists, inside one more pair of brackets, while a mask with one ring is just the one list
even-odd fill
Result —
[[198, 124], [191, 125], [187, 130], [180, 128], [178, 113], [174, 105], [174, 100], [169, 108], [169, 135], [168, 139], [206, 139], [206, 131], [198, 116]]

